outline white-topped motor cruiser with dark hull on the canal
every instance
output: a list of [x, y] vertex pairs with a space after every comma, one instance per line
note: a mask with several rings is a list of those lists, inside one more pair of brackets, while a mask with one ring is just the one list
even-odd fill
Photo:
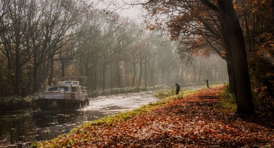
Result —
[[86, 81], [86, 76], [61, 77], [57, 85], [48, 86], [44, 92], [34, 93], [32, 108], [52, 111], [80, 109], [90, 105]]

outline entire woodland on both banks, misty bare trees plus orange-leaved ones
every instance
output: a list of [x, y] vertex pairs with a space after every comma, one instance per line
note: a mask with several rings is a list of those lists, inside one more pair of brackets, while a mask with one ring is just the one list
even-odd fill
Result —
[[88, 76], [90, 90], [199, 84], [226, 80], [227, 68], [237, 112], [273, 113], [273, 0], [138, 4], [146, 26], [83, 0], [1, 0], [1, 94], [71, 75]]

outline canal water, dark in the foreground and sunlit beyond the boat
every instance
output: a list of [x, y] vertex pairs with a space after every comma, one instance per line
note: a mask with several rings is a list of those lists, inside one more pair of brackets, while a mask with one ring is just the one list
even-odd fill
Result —
[[90, 106], [74, 111], [37, 112], [32, 109], [0, 112], [0, 148], [26, 148], [34, 141], [55, 138], [71, 129], [107, 115], [154, 102], [152, 92], [93, 98]]

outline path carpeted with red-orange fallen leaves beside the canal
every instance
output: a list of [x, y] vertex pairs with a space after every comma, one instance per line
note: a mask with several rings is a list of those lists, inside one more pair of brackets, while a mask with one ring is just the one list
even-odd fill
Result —
[[91, 148], [274, 146], [271, 119], [213, 109], [221, 90], [201, 89], [127, 121], [94, 125], [60, 140], [72, 147]]

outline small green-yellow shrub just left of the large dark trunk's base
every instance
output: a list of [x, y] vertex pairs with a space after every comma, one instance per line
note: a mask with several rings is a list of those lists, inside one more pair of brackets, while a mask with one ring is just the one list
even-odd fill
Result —
[[236, 98], [235, 95], [230, 93], [229, 86], [226, 85], [223, 92], [220, 93], [221, 100], [214, 105], [215, 108], [227, 109], [231, 112], [236, 111]]

